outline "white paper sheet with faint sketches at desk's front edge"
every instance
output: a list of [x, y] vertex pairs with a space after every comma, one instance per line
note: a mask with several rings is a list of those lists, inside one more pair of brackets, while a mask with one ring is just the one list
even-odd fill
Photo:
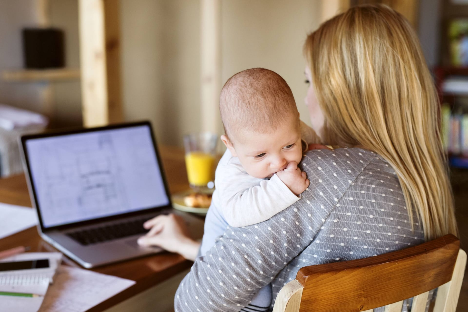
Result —
[[39, 312], [83, 312], [134, 283], [124, 278], [62, 265]]

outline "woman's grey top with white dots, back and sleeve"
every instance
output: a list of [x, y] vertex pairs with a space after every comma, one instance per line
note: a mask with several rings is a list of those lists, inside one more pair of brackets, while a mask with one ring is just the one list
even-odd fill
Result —
[[273, 306], [301, 267], [424, 242], [418, 220], [411, 231], [394, 169], [379, 155], [359, 148], [313, 150], [300, 168], [310, 180], [302, 198], [265, 222], [228, 227], [179, 285], [176, 312], [240, 311], [268, 283]]

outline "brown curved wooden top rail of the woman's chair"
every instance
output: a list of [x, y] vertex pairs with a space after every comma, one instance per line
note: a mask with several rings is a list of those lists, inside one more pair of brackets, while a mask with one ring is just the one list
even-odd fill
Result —
[[301, 268], [300, 311], [359, 312], [417, 296], [450, 281], [459, 249], [449, 234], [375, 257]]

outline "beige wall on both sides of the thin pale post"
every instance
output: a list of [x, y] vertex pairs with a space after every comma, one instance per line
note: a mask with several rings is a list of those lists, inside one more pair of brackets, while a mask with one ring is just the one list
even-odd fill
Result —
[[[150, 119], [158, 141], [182, 145], [183, 134], [200, 130], [200, 1], [120, 3], [125, 117]], [[320, 1], [224, 0], [221, 7], [222, 84], [250, 67], [276, 71], [309, 122], [302, 44], [318, 26]]]

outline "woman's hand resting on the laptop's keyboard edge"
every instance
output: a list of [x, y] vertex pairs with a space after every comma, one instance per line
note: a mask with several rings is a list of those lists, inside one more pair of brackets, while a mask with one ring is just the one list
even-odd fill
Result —
[[190, 238], [182, 217], [160, 215], [146, 221], [143, 227], [150, 231], [138, 239], [140, 246], [158, 246], [192, 261], [197, 257], [200, 243]]

